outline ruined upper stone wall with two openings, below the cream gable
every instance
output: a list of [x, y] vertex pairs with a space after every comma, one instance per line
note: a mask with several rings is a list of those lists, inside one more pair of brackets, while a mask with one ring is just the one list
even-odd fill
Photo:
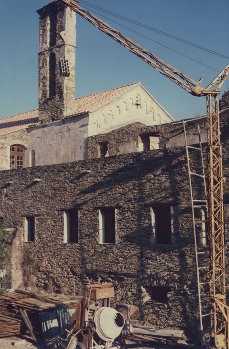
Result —
[[[206, 118], [200, 121], [202, 143], [207, 143]], [[186, 126], [188, 145], [199, 143], [197, 126]], [[104, 134], [88, 137], [88, 159], [99, 157], [99, 145], [108, 143], [109, 156], [136, 153], [142, 151], [141, 137], [158, 135], [159, 148], [174, 148], [185, 145], [182, 122], [166, 123], [163, 125], [147, 126], [140, 122], [134, 122], [117, 130]]]

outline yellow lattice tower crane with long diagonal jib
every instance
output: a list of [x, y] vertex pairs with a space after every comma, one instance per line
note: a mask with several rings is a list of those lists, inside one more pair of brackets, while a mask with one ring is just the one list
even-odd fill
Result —
[[229, 306], [226, 304], [225, 280], [225, 231], [223, 205], [223, 169], [222, 146], [220, 143], [219, 94], [229, 74], [229, 64], [204, 89], [203, 77], [198, 81], [190, 79], [169, 63], [158, 58], [138, 43], [129, 39], [108, 23], [99, 19], [75, 0], [62, 0], [73, 11], [92, 23], [115, 41], [136, 54], [159, 73], [175, 82], [194, 96], [207, 98], [208, 131], [208, 222], [210, 245], [210, 300], [211, 300], [211, 335], [218, 349], [229, 349]]

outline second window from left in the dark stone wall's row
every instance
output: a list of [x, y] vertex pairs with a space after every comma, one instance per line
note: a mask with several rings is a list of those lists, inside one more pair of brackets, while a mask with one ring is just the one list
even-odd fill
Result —
[[64, 243], [78, 242], [78, 216], [77, 209], [69, 209], [64, 211]]

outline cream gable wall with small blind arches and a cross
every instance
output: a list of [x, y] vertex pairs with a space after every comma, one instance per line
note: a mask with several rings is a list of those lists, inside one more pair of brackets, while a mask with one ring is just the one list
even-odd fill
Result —
[[174, 119], [138, 85], [105, 107], [90, 113], [88, 135], [112, 131], [135, 121], [161, 125]]

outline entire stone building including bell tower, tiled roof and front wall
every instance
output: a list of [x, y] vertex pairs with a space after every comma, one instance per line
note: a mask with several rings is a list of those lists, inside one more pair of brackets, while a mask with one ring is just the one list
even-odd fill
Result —
[[[0, 120], [0, 216], [12, 228], [10, 286], [78, 295], [88, 283], [112, 281], [116, 302], [138, 306], [138, 319], [196, 329], [182, 121], [174, 122], [140, 83], [74, 99], [74, 14], [59, 0], [38, 13], [39, 110]], [[67, 61], [69, 70], [61, 65]], [[205, 144], [206, 118], [192, 124], [188, 143], [198, 143], [200, 125]], [[228, 131], [224, 108], [226, 222]], [[23, 147], [24, 166], [9, 170], [13, 145]], [[199, 166], [198, 158], [192, 161]], [[203, 194], [200, 185], [194, 190]], [[198, 234], [208, 255], [206, 229]]]

